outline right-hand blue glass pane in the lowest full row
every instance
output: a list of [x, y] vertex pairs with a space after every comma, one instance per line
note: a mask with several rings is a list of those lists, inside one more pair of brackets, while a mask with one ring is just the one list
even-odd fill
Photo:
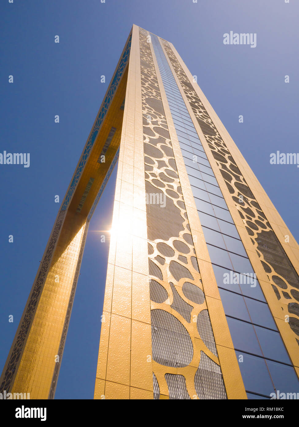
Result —
[[299, 381], [292, 366], [267, 360], [276, 390], [282, 393], [299, 393]]

